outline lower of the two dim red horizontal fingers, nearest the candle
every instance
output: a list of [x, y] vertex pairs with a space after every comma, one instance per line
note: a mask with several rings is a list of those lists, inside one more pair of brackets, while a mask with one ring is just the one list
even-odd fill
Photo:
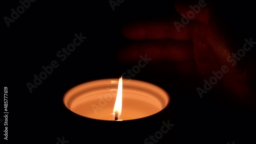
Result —
[[194, 59], [191, 41], [158, 40], [126, 45], [117, 53], [122, 62], [134, 62], [146, 55], [152, 61], [191, 61]]

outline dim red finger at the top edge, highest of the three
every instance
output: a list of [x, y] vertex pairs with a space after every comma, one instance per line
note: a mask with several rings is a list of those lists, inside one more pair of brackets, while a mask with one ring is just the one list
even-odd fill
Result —
[[209, 22], [209, 10], [212, 4], [210, 1], [177, 1], [175, 2], [175, 9], [183, 17], [198, 20], [204, 24]]

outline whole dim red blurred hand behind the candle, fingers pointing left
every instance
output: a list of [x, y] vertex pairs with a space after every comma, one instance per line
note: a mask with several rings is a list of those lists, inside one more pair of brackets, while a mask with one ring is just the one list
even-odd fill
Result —
[[[123, 47], [118, 52], [118, 60], [138, 62], [139, 56], [146, 54], [156, 63], [155, 71], [165, 75], [168, 75], [166, 71], [169, 74], [176, 71], [184, 77], [196, 78], [195, 90], [200, 97], [208, 90], [217, 89], [227, 92], [228, 98], [235, 102], [254, 103], [250, 83], [254, 76], [250, 71], [255, 71], [254, 61], [247, 63], [245, 59], [250, 59], [247, 56], [256, 40], [247, 38], [249, 44], [232, 37], [222, 23], [217, 5], [210, 1], [195, 2], [175, 3], [180, 15], [133, 21], [123, 26], [123, 36], [135, 43]], [[187, 18], [182, 19], [181, 14]], [[237, 54], [240, 49], [246, 50], [246, 56]], [[206, 81], [212, 83], [212, 88], [204, 87]]]

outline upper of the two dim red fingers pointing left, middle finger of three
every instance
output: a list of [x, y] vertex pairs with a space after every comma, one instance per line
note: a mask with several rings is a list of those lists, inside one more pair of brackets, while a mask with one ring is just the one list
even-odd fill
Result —
[[175, 21], [181, 19], [181, 16], [174, 17], [173, 20], [168, 18], [159, 18], [152, 20], [133, 21], [126, 23], [121, 28], [124, 37], [141, 40], [141, 39], [176, 39], [188, 40], [191, 39], [191, 30], [193, 22], [188, 23], [180, 29], [180, 26], [175, 25]]

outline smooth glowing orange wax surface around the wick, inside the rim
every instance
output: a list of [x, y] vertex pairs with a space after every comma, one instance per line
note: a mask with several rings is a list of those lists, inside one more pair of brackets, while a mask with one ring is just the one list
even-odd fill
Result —
[[[127, 120], [142, 118], [157, 113], [162, 109], [162, 106], [158, 101], [154, 100], [151, 97], [144, 97], [146, 96], [143, 95], [142, 97], [138, 94], [133, 94], [125, 97], [124, 94], [122, 113], [121, 117], [118, 117], [118, 119]], [[114, 120], [112, 112], [115, 98], [113, 98], [111, 101], [105, 101], [105, 103], [103, 103], [103, 99], [100, 99], [98, 97], [95, 98], [96, 99], [94, 101], [86, 101], [86, 99], [84, 99], [83, 103], [72, 107], [72, 111], [79, 115], [90, 118], [109, 121]], [[101, 104], [99, 103], [100, 100], [102, 102]]]

